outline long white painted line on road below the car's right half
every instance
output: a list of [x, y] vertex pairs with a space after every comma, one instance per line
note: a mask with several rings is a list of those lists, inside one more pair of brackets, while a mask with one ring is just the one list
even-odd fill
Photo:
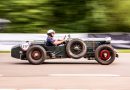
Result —
[[64, 77], [119, 77], [115, 74], [49, 74], [48, 76], [64, 76]]

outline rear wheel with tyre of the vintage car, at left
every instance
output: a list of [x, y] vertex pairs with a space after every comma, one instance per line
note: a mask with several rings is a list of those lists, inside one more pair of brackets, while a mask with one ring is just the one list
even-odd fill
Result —
[[31, 64], [42, 64], [46, 59], [46, 50], [39, 45], [31, 46], [26, 53], [26, 57]]

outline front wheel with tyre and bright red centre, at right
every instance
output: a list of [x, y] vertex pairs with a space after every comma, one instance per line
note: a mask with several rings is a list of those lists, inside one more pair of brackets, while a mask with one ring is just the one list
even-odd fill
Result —
[[111, 45], [101, 45], [95, 51], [95, 59], [102, 65], [111, 64], [116, 57], [116, 53]]

